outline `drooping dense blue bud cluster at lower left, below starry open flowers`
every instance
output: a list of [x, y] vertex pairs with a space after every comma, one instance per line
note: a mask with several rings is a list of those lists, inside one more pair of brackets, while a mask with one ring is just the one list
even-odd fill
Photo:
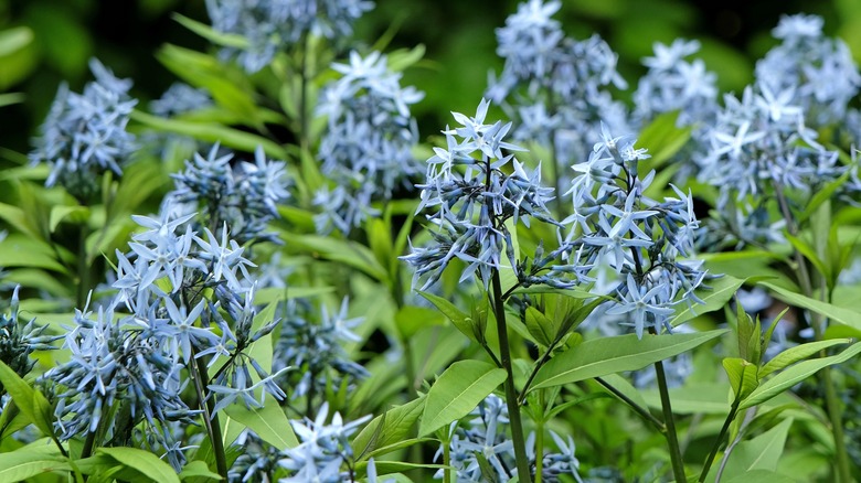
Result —
[[[150, 436], [168, 449], [176, 441], [167, 422], [193, 423], [194, 411], [180, 398], [181, 366], [167, 340], [162, 345], [132, 315], [116, 314], [117, 302], [99, 308], [95, 318], [87, 308], [77, 310], [75, 326], [63, 344], [71, 352], [70, 361], [43, 376], [66, 388], [56, 395], [60, 438], [96, 433], [105, 421], [105, 433], [127, 443], [136, 422], [144, 419]], [[121, 416], [109, 416], [114, 411]]]

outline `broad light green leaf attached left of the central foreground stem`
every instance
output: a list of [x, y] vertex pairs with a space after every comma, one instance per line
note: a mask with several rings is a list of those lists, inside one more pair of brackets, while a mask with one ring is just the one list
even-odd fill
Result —
[[418, 426], [418, 436], [429, 434], [460, 419], [506, 380], [506, 369], [481, 361], [459, 361], [431, 387]]

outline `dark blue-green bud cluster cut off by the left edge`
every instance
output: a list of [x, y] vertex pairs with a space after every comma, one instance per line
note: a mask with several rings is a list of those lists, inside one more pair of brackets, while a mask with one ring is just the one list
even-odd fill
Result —
[[[30, 358], [30, 354], [34, 351], [56, 348], [51, 343], [63, 339], [63, 336], [44, 335], [46, 325], [36, 325], [35, 319], [31, 319], [26, 324], [21, 324], [18, 309], [19, 289], [20, 286], [15, 287], [12, 292], [9, 314], [0, 315], [0, 361], [23, 377], [35, 365], [35, 361]], [[3, 393], [3, 383], [0, 383], [0, 395]], [[2, 411], [1, 408], [0, 411]]]

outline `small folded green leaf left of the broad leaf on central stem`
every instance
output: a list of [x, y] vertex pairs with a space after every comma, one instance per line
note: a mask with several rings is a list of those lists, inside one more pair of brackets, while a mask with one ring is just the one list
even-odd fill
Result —
[[394, 407], [375, 417], [353, 438], [352, 448], [359, 460], [365, 460], [372, 452], [403, 441], [410, 437], [415, 421], [422, 415], [425, 396]]

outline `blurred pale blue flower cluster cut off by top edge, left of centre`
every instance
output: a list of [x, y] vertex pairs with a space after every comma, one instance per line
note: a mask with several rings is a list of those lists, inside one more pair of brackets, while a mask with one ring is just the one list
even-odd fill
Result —
[[276, 53], [309, 34], [349, 36], [353, 22], [372, 8], [368, 0], [206, 0], [212, 26], [244, 37], [242, 47], [224, 47], [222, 56], [236, 57], [248, 73], [262, 69]]

